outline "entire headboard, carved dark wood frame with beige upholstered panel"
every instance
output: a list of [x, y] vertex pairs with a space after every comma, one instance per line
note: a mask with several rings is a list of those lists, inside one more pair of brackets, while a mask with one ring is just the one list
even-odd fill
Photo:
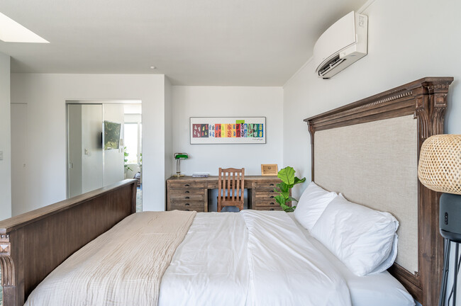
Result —
[[426, 77], [304, 120], [311, 134], [312, 181], [395, 215], [400, 258], [389, 271], [425, 306], [438, 304], [443, 239], [440, 193], [418, 181], [417, 166], [423, 141], [443, 133], [452, 81]]

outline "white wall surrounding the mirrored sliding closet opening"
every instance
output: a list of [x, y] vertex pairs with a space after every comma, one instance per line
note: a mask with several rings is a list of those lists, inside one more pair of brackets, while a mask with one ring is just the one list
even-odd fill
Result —
[[164, 91], [161, 74], [11, 74], [11, 103], [28, 104], [29, 145], [26, 202], [13, 205], [28, 210], [66, 198], [66, 100], [139, 100], [143, 209], [164, 210], [165, 179], [158, 175], [165, 173]]

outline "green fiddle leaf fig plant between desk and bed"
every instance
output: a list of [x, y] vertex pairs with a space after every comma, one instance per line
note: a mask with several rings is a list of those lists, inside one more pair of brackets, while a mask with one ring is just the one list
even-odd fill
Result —
[[287, 166], [284, 169], [280, 169], [277, 176], [282, 180], [282, 183], [277, 183], [277, 188], [274, 188], [274, 191], [279, 193], [278, 196], [275, 196], [275, 200], [285, 212], [293, 212], [296, 209], [296, 206], [288, 206], [288, 202], [298, 202], [295, 198], [290, 196], [290, 191], [293, 186], [304, 183], [306, 178], [299, 179], [297, 176], [294, 176], [296, 171], [294, 171], [291, 166]]

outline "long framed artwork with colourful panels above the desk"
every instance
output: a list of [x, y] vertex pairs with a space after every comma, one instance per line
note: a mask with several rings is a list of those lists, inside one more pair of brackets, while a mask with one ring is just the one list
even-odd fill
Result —
[[265, 144], [265, 117], [191, 117], [191, 145]]

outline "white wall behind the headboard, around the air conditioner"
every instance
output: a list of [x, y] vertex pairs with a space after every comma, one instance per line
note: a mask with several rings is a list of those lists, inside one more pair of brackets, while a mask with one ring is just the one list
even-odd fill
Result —
[[[308, 62], [284, 86], [284, 158], [311, 179], [310, 136], [304, 118], [422, 77], [455, 77], [445, 132], [461, 134], [461, 1], [377, 0], [368, 16], [368, 55], [332, 79]], [[296, 189], [296, 188], [295, 188]], [[304, 188], [294, 191], [295, 198]]]

